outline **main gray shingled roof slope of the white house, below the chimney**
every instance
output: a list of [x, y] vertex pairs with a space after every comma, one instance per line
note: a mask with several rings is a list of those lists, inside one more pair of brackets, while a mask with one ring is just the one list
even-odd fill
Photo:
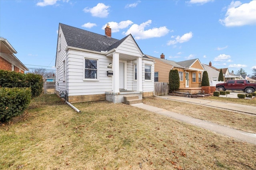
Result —
[[[63, 23], [60, 23], [60, 27], [68, 46], [71, 47], [92, 51], [107, 51], [122, 43], [120, 42], [121, 40], [65, 25]], [[122, 39], [122, 41], [124, 41], [124, 39]]]

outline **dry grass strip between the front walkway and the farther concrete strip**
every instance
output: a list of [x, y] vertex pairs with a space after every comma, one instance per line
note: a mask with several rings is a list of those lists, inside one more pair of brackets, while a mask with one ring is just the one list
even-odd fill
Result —
[[145, 98], [143, 103], [198, 119], [208, 120], [220, 125], [226, 125], [242, 131], [256, 133], [256, 116], [254, 115], [241, 114], [185, 102], [165, 100], [162, 98]]

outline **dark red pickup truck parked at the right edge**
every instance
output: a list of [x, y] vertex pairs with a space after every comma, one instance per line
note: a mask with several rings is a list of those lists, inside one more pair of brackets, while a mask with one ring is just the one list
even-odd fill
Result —
[[256, 83], [250, 83], [248, 80], [228, 80], [225, 83], [216, 84], [219, 91], [242, 90], [246, 93], [253, 93], [256, 90]]

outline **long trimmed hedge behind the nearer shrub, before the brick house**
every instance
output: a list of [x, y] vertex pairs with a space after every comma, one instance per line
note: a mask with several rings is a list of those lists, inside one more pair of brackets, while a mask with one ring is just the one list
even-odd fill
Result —
[[0, 87], [30, 87], [32, 98], [40, 96], [44, 81], [39, 74], [21, 74], [14, 71], [0, 70]]

